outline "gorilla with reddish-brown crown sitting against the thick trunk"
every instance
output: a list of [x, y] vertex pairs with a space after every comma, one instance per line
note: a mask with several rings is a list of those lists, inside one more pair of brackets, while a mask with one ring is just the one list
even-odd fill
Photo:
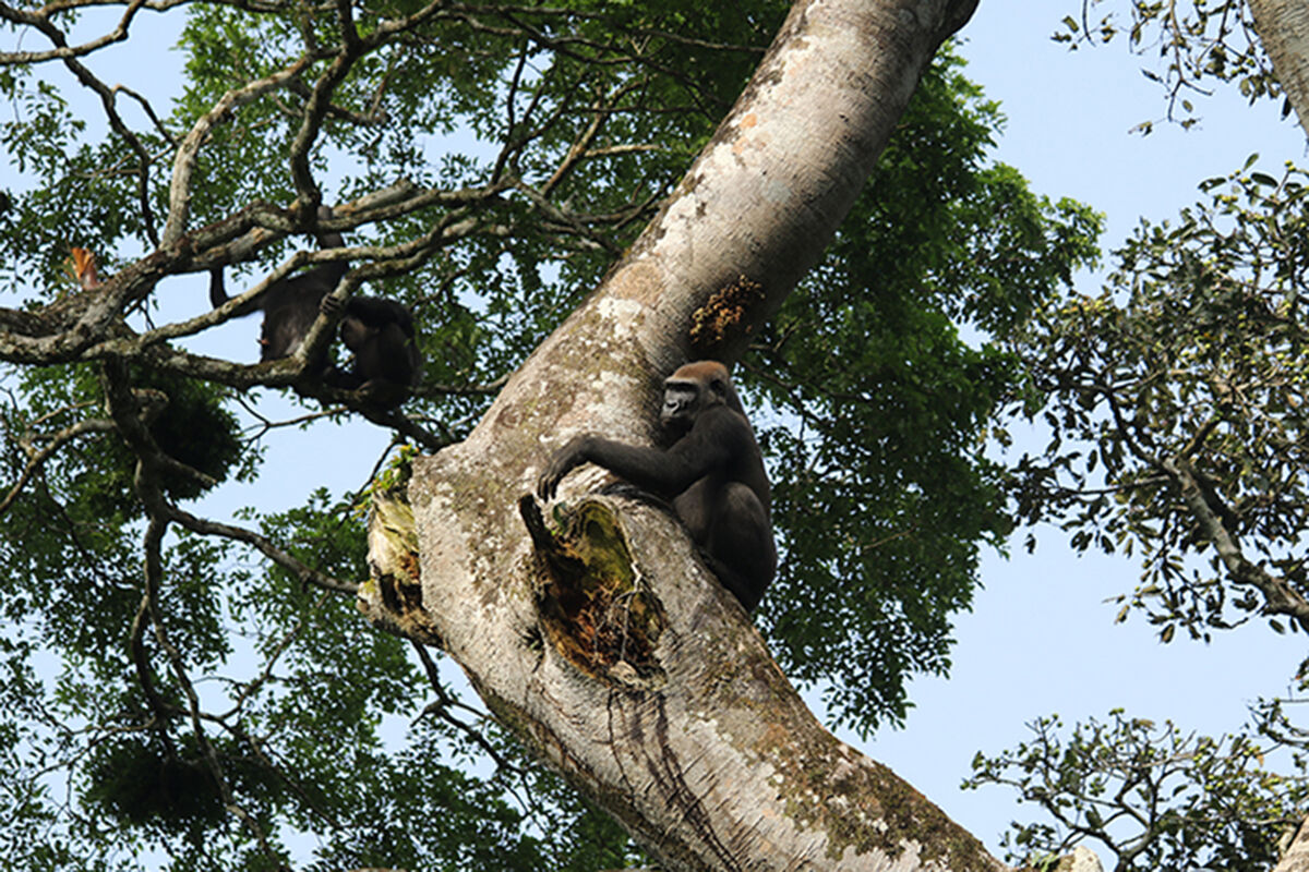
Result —
[[537, 493], [551, 499], [568, 472], [594, 463], [673, 501], [709, 567], [754, 611], [778, 571], [768, 475], [728, 370], [696, 361], [664, 382], [660, 424], [677, 441], [668, 450], [573, 437], [550, 459]]

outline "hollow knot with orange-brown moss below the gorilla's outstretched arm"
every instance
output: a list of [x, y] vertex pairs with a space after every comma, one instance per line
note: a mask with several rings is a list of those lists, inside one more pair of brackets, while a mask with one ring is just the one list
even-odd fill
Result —
[[614, 510], [596, 499], [556, 507], [559, 529], [548, 531], [531, 497], [518, 507], [541, 557], [537, 607], [555, 650], [594, 677], [662, 684], [654, 647], [664, 608], [640, 579]]

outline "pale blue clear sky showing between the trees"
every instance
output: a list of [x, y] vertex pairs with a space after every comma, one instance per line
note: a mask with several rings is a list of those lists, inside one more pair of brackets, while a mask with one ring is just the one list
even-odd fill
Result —
[[[1141, 216], [1174, 216], [1198, 199], [1202, 179], [1240, 167], [1253, 152], [1272, 175], [1280, 174], [1283, 161], [1304, 159], [1304, 137], [1291, 120], [1279, 119], [1280, 103], [1249, 107], [1234, 89], [1195, 101], [1203, 115], [1198, 129], [1161, 124], [1148, 137], [1130, 133], [1165, 111], [1162, 89], [1139, 72], [1155, 58], [1131, 56], [1123, 44], [1069, 52], [1051, 42], [1059, 20], [1076, 13], [1077, 1], [982, 0], [963, 31], [963, 55], [969, 77], [999, 99], [1009, 118], [997, 158], [1022, 171], [1037, 192], [1072, 196], [1105, 212], [1107, 247], [1117, 247]], [[160, 35], [148, 43], [171, 42]], [[92, 65], [110, 81], [137, 88], [170, 84], [157, 75], [158, 56], [144, 60], [156, 68], [153, 78], [141, 75], [143, 58], [130, 48], [115, 48], [105, 63], [97, 58]], [[170, 282], [165, 290], [187, 311], [206, 305], [203, 281]], [[253, 360], [253, 320], [229, 329], [249, 333], [241, 341], [249, 343]], [[224, 352], [232, 353], [230, 339], [217, 341], [226, 341]], [[224, 486], [217, 502], [279, 510], [317, 485], [356, 488], [389, 437], [352, 424], [318, 428], [308, 439], [295, 434], [276, 441], [270, 454], [279, 469], [276, 488], [270, 489], [266, 476], [253, 489]], [[305, 463], [306, 456], [313, 461]], [[206, 510], [221, 511], [213, 503], [207, 501]], [[1025, 740], [1024, 724], [1035, 716], [1058, 713], [1072, 723], [1123, 706], [1135, 716], [1172, 718], [1187, 729], [1217, 735], [1238, 728], [1257, 697], [1285, 690], [1305, 655], [1302, 637], [1276, 637], [1251, 625], [1208, 647], [1183, 641], [1181, 633], [1173, 645], [1161, 646], [1139, 617], [1113, 624], [1118, 607], [1103, 600], [1130, 591], [1136, 574], [1128, 561], [1076, 558], [1058, 531], [1039, 536], [1034, 556], [1021, 546], [1009, 561], [988, 556], [986, 590], [974, 612], [958, 618], [950, 679], [912, 685], [918, 707], [903, 731], [886, 731], [863, 745], [846, 739], [997, 850], [1008, 821], [1035, 809], [1016, 807], [1003, 788], [965, 794], [958, 786], [975, 752], [995, 753]]]

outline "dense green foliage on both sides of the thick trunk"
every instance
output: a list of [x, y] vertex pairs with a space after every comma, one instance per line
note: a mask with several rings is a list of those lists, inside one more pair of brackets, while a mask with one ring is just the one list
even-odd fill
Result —
[[[626, 864], [626, 835], [458, 698], [435, 654], [359, 620], [352, 494], [234, 523], [191, 501], [267, 475], [267, 439], [352, 412], [397, 443], [467, 433], [654, 213], [784, 4], [187, 4], [177, 90], [97, 75], [99, 44], [79, 42], [97, 5], [7, 8], [29, 47], [0, 52], [18, 170], [0, 197], [0, 814], [18, 821], [0, 852], [48, 869]], [[134, 46], [134, 16], [169, 8], [126, 12]], [[988, 163], [1001, 118], [958, 68], [937, 61], [740, 373], [785, 549], [761, 622], [863, 731], [949, 664], [978, 548], [1011, 523], [980, 452], [1020, 374], [994, 337], [1098, 229]], [[297, 251], [319, 200], [348, 252]], [[98, 275], [75, 261], [72, 286], [75, 246]], [[346, 290], [415, 310], [427, 367], [404, 414], [332, 392], [302, 357], [198, 350], [224, 316], [195, 273], [257, 286], [313, 258], [348, 258]]]

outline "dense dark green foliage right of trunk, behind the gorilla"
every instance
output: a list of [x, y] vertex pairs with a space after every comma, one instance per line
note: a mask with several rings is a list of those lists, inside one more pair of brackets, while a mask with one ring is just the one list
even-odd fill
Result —
[[825, 685], [865, 733], [903, 718], [908, 676], [948, 669], [979, 548], [1012, 528], [982, 448], [1021, 367], [988, 336], [1097, 255], [1098, 216], [984, 166], [1001, 116], [959, 65], [937, 58], [826, 259], [746, 358], [784, 413], [761, 428], [785, 554], [763, 622], [787, 675]]

